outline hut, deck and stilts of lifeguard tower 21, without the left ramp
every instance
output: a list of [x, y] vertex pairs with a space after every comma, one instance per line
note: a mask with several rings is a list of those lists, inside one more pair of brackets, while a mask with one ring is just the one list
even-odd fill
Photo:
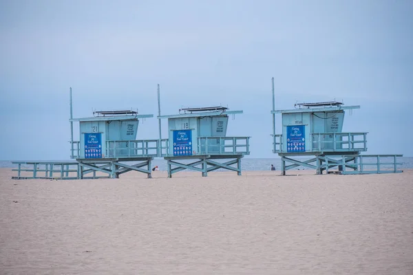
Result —
[[[72, 96], [71, 96], [72, 102]], [[107, 173], [116, 178], [135, 170], [151, 177], [151, 160], [160, 157], [167, 140], [136, 140], [140, 119], [153, 118], [138, 111], [94, 111], [90, 118], [72, 118], [72, 154], [79, 164], [79, 178], [87, 173]], [[79, 141], [73, 141], [73, 122], [79, 122]], [[130, 164], [134, 162], [134, 164]]]

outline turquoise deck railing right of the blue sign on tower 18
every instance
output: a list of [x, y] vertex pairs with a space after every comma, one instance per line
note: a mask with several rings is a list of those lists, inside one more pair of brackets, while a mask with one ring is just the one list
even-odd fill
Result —
[[250, 137], [198, 137], [198, 154], [249, 155]]

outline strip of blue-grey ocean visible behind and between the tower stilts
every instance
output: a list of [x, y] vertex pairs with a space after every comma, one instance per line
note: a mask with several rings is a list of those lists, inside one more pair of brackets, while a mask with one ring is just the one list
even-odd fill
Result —
[[[301, 158], [305, 159], [305, 158]], [[375, 161], [375, 159], [371, 159], [372, 161]], [[45, 162], [46, 160], [43, 160]], [[62, 161], [62, 160], [59, 160]], [[70, 161], [70, 160], [64, 160], [64, 161]], [[383, 162], [383, 159], [382, 159]], [[398, 165], [398, 168], [405, 168], [405, 169], [413, 169], [413, 157], [399, 157], [398, 162], [401, 162], [401, 165]], [[189, 163], [187, 161], [186, 163]], [[276, 170], [281, 170], [281, 158], [275, 157], [275, 158], [251, 158], [251, 157], [244, 157], [241, 159], [241, 165], [242, 165], [242, 170], [270, 170], [271, 164], [275, 166]], [[167, 161], [162, 158], [155, 158], [152, 161], [152, 167], [158, 166], [159, 170], [167, 170]], [[17, 165], [12, 164], [10, 161], [0, 161], [0, 168], [17, 168]], [[381, 168], [392, 168], [392, 166], [388, 165], [383, 165]], [[305, 167], [297, 167], [299, 170], [310, 170], [310, 168], [305, 168]], [[219, 169], [222, 170], [222, 169]]]

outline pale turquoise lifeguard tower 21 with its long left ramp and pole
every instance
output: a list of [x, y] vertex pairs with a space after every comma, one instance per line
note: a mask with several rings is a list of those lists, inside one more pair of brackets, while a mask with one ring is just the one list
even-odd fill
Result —
[[[12, 162], [18, 166], [12, 179], [117, 178], [129, 171], [150, 178], [153, 157], [166, 155], [168, 148], [168, 140], [136, 140], [140, 120], [153, 115], [141, 115], [138, 110], [94, 111], [93, 115], [73, 118], [70, 88], [70, 158], [75, 160]], [[79, 125], [78, 141], [73, 137], [74, 122]]]

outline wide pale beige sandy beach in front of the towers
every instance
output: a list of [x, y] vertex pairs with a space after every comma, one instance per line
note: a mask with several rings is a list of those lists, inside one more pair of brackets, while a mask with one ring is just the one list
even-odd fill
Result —
[[[293, 172], [294, 173], [294, 172]], [[413, 274], [413, 170], [12, 180], [1, 274]]]

